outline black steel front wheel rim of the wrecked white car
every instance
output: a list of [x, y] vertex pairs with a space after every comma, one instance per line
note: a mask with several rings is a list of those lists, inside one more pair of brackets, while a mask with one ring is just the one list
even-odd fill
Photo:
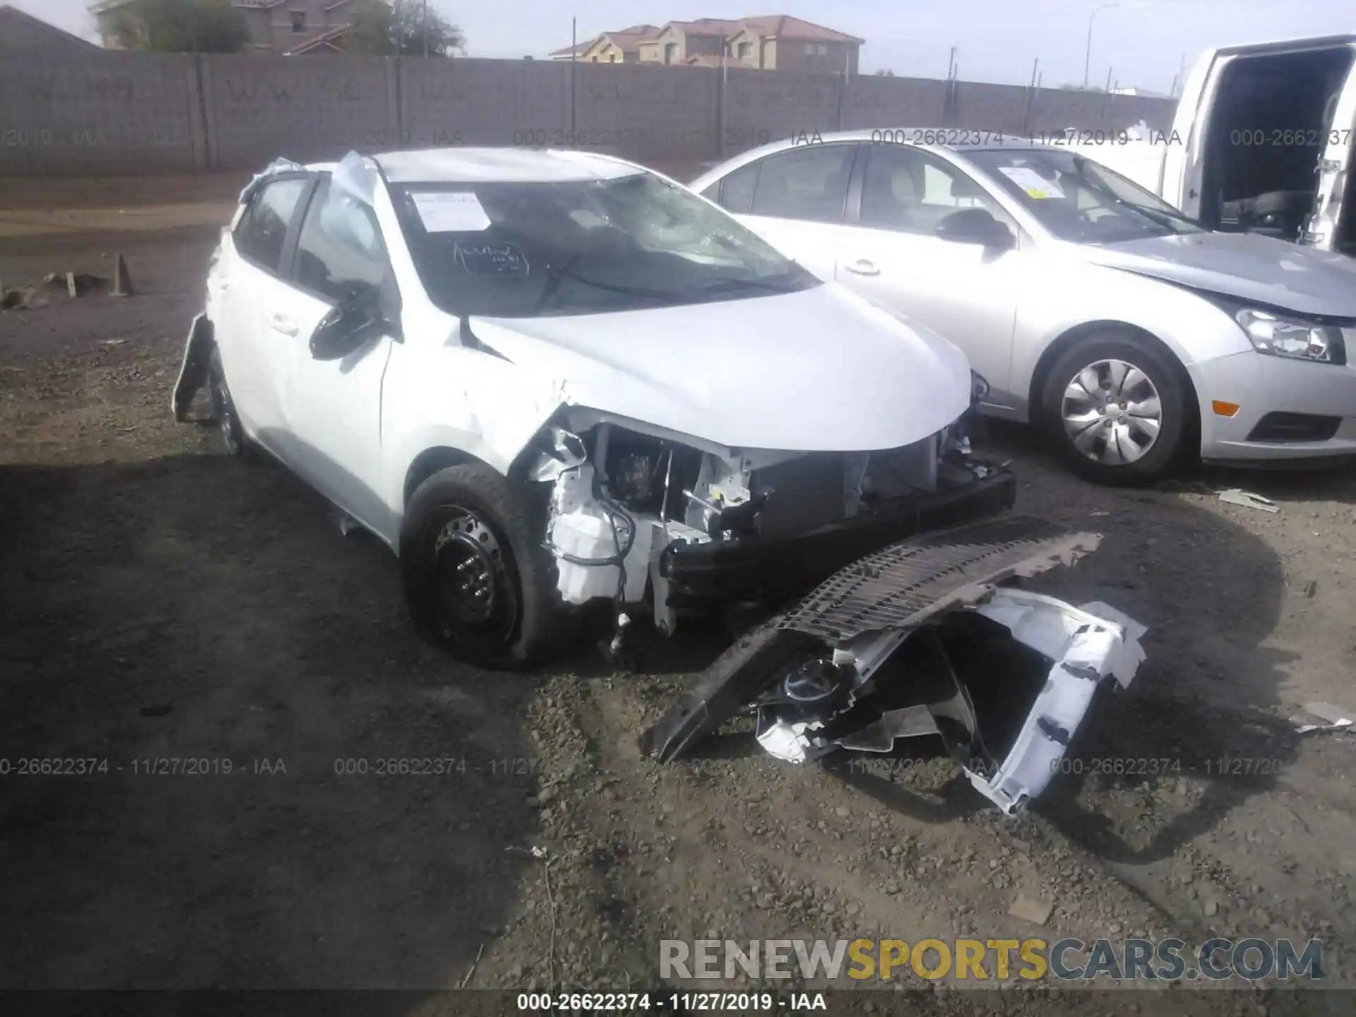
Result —
[[433, 568], [449, 637], [511, 641], [518, 591], [488, 523], [469, 509], [447, 506], [434, 537]]

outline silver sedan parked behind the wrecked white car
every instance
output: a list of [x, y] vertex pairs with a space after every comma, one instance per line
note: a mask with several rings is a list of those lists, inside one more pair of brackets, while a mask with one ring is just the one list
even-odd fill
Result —
[[1353, 259], [1211, 232], [1067, 148], [978, 132], [799, 136], [690, 186], [960, 346], [983, 412], [1090, 479], [1356, 456]]

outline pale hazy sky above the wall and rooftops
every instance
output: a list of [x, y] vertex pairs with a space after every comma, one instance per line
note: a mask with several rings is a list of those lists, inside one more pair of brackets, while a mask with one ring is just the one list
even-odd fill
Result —
[[[84, 0], [8, 0], [62, 28], [92, 37]], [[728, 0], [727, 0], [728, 3]], [[747, 0], [743, 0], [747, 3]], [[542, 57], [579, 38], [628, 24], [693, 18], [791, 14], [866, 39], [861, 69], [944, 77], [951, 47], [960, 77], [1025, 84], [1040, 60], [1047, 87], [1082, 84], [1088, 20], [1101, 0], [789, 0], [744, 9], [719, 0], [579, 0], [575, 9], [552, 0], [430, 4], [461, 26], [473, 57]], [[1182, 56], [1230, 42], [1356, 31], [1352, 0], [1121, 0], [1096, 15], [1093, 83], [1115, 81], [1166, 92]]]

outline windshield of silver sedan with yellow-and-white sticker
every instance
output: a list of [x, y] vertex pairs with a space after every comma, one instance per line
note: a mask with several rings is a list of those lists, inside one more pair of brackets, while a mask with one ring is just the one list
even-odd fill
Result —
[[1086, 156], [1062, 149], [967, 152], [1060, 240], [1113, 244], [1205, 226]]

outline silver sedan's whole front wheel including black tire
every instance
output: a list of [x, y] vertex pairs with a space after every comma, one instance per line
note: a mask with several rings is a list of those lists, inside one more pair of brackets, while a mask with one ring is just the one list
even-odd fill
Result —
[[[1138, 369], [1143, 381], [1136, 374], [1121, 373], [1124, 388], [1117, 392], [1112, 362]], [[1075, 380], [1092, 380], [1093, 376], [1083, 374], [1089, 369], [1100, 391], [1090, 393], [1088, 400], [1070, 397], [1066, 401], [1066, 392], [1073, 391]], [[1154, 395], [1159, 416], [1157, 433], [1150, 435], [1153, 420], [1147, 418], [1147, 407]], [[1040, 401], [1041, 422], [1064, 461], [1075, 473], [1098, 484], [1136, 485], [1162, 479], [1181, 461], [1184, 437], [1191, 434], [1191, 391], [1180, 365], [1170, 354], [1134, 334], [1102, 332], [1064, 350], [1045, 378]], [[1078, 433], [1075, 442], [1070, 428], [1078, 428], [1077, 416], [1083, 407], [1092, 424]], [[1136, 407], [1143, 411], [1140, 415], [1130, 412]], [[1075, 418], [1067, 424], [1066, 410]], [[1135, 458], [1131, 458], [1131, 445], [1138, 450]]]

